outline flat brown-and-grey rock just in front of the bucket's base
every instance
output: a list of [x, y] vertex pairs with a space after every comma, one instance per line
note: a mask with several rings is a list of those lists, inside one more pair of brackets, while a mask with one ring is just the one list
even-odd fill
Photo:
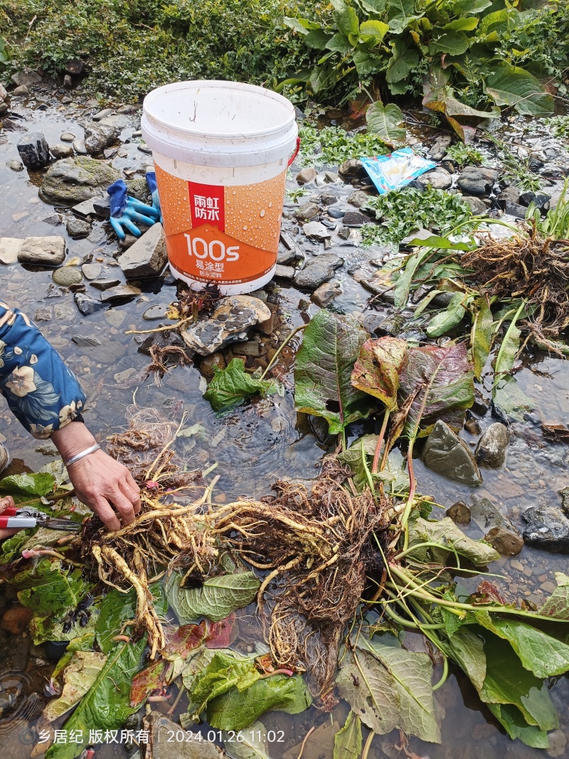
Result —
[[271, 311], [259, 298], [232, 295], [218, 301], [211, 317], [181, 330], [188, 348], [207, 356], [230, 342], [247, 339], [247, 329], [270, 319]]

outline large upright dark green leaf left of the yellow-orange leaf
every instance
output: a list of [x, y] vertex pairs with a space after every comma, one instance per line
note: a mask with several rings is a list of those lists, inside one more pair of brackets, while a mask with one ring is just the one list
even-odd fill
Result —
[[331, 434], [366, 419], [373, 408], [369, 396], [351, 383], [367, 336], [354, 319], [325, 309], [304, 330], [294, 369], [294, 404], [298, 411], [328, 420]]

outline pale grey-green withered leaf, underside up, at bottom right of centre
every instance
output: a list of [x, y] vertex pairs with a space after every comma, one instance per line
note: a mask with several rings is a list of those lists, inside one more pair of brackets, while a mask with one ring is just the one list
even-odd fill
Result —
[[363, 639], [344, 657], [336, 682], [342, 698], [379, 735], [399, 728], [439, 743], [431, 677], [426, 653]]

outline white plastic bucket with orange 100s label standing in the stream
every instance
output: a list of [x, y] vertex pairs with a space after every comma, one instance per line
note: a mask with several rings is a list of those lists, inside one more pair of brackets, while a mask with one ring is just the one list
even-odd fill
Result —
[[167, 84], [144, 99], [170, 268], [193, 289], [246, 293], [275, 273], [294, 106], [250, 84]]

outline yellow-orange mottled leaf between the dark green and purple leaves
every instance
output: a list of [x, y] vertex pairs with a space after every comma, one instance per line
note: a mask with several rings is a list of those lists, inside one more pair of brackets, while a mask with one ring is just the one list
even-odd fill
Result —
[[406, 356], [405, 340], [396, 337], [366, 340], [352, 371], [352, 385], [379, 398], [389, 411], [395, 411], [399, 373]]

